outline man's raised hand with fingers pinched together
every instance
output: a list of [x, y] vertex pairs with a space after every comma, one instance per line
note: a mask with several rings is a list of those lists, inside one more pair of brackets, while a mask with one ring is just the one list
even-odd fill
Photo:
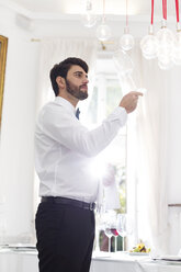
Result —
[[120, 102], [120, 106], [123, 106], [127, 113], [135, 111], [137, 106], [138, 97], [143, 97], [142, 92], [129, 92], [123, 97], [122, 101]]

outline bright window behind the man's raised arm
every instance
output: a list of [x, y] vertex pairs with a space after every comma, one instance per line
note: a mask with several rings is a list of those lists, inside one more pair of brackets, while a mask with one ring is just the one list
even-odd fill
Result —
[[[97, 127], [118, 105], [122, 97], [122, 89], [113, 60], [98, 59], [94, 84], [87, 104], [86, 125], [90, 128]], [[120, 213], [126, 212], [126, 139], [127, 131], [125, 126], [120, 129], [111, 145], [100, 155], [100, 168], [103, 167], [106, 170], [106, 167], [111, 166], [115, 173], [115, 183], [121, 202], [121, 208], [116, 212]], [[104, 173], [102, 172], [102, 174]], [[103, 238], [102, 231], [101, 241]], [[114, 239], [112, 239], [112, 248], [114, 248], [113, 242]], [[108, 250], [108, 247], [101, 249]], [[121, 237], [118, 237], [117, 249], [122, 249]]]

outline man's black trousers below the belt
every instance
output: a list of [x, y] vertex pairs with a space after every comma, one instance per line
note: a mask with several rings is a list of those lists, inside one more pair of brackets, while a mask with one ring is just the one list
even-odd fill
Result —
[[94, 212], [57, 203], [41, 203], [36, 213], [39, 272], [89, 272]]

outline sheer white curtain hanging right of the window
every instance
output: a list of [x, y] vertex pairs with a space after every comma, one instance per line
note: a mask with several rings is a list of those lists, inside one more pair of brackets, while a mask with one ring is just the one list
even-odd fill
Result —
[[[151, 246], [158, 253], [166, 252], [168, 245], [167, 201], [167, 148], [168, 148], [168, 94], [166, 73], [156, 60], [140, 57], [143, 82], [147, 93], [142, 100], [138, 121], [138, 201], [142, 214], [139, 229], [147, 218], [147, 231]], [[144, 211], [145, 207], [145, 211]], [[139, 222], [139, 220], [138, 220]]]

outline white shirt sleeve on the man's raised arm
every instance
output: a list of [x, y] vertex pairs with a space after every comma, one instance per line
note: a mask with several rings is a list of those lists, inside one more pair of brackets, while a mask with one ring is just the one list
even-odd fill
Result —
[[[64, 109], [65, 110], [65, 109]], [[126, 123], [125, 109], [117, 106], [100, 126], [89, 131], [73, 115], [60, 106], [49, 107], [42, 114], [42, 131], [60, 145], [92, 157], [102, 151]]]

